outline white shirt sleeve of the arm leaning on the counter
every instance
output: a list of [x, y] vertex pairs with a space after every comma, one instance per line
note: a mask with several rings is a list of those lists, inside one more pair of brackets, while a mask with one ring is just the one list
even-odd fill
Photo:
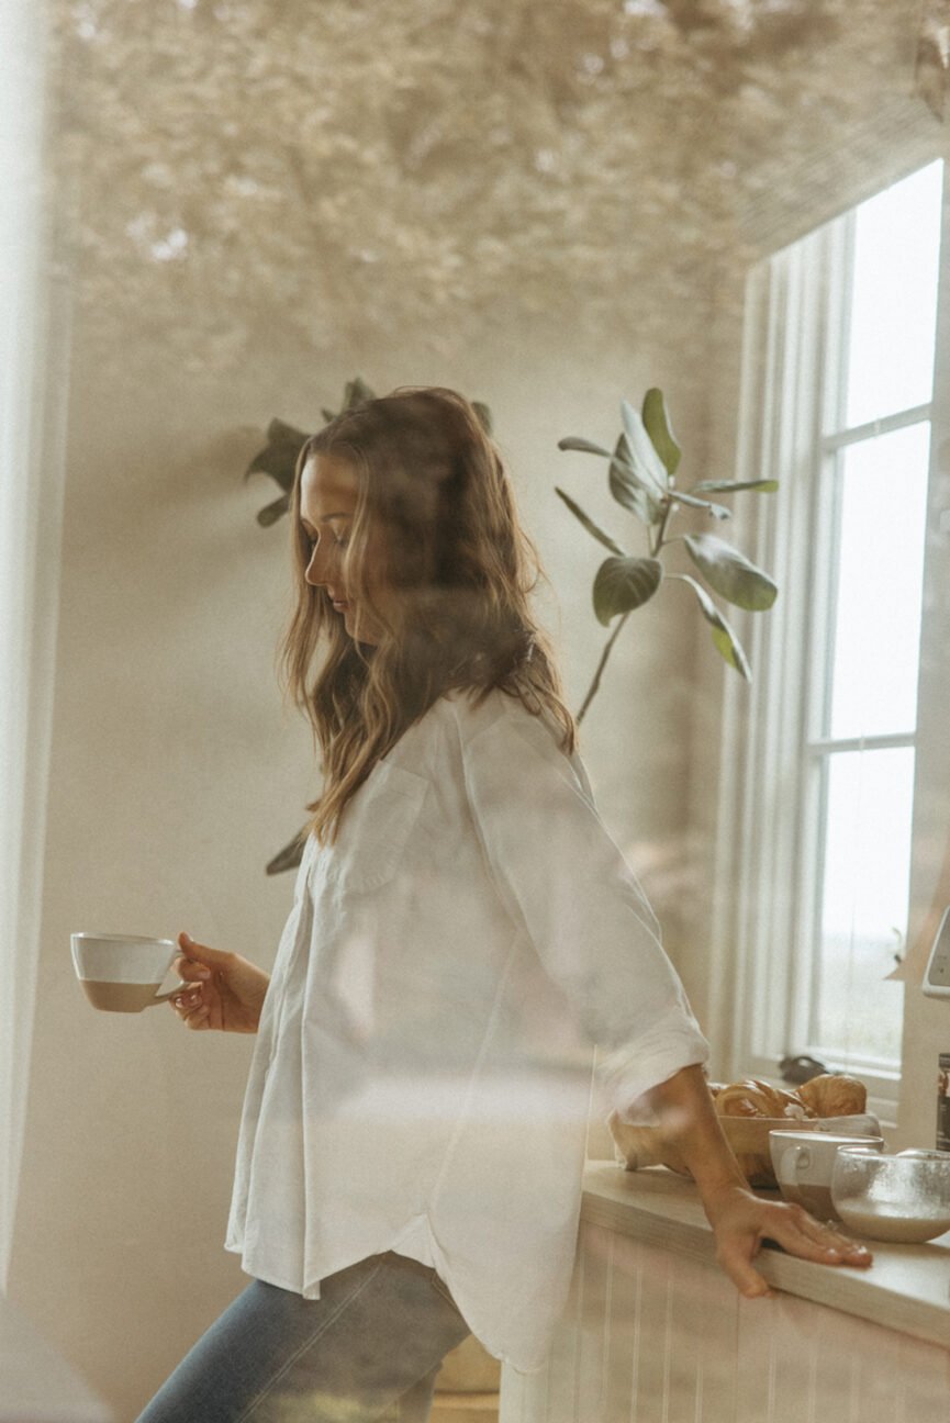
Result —
[[463, 740], [466, 793], [499, 894], [561, 988], [625, 1121], [640, 1099], [709, 1047], [659, 925], [604, 827], [580, 763], [528, 713]]

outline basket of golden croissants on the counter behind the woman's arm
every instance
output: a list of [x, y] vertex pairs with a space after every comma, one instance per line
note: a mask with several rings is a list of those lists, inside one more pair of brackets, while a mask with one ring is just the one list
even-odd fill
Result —
[[[822, 1073], [793, 1090], [772, 1087], [758, 1077], [708, 1086], [726, 1141], [749, 1185], [778, 1185], [769, 1157], [769, 1131], [790, 1128], [867, 1136], [877, 1130], [876, 1120], [865, 1116], [867, 1089], [845, 1074]], [[863, 1123], [856, 1123], [855, 1117], [862, 1117]], [[617, 1160], [628, 1171], [667, 1165], [671, 1171], [689, 1175], [682, 1155], [659, 1127], [634, 1127], [621, 1121], [617, 1113], [611, 1114], [608, 1127]]]

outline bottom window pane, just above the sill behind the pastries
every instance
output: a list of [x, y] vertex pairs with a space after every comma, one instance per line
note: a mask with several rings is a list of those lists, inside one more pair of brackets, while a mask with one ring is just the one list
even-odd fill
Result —
[[900, 1059], [913, 780], [910, 747], [828, 758], [813, 1046], [842, 1057]]

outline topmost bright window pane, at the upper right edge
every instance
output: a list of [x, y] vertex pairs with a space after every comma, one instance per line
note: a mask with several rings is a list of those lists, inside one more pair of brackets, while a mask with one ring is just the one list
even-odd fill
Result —
[[931, 398], [941, 185], [930, 164], [856, 209], [849, 427]]

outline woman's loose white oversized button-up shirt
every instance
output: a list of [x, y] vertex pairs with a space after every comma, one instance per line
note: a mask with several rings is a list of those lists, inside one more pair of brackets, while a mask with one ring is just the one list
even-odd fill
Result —
[[583, 766], [520, 702], [437, 702], [310, 837], [251, 1067], [226, 1248], [262, 1281], [383, 1251], [543, 1363], [577, 1241], [593, 1044], [630, 1109], [708, 1046]]

